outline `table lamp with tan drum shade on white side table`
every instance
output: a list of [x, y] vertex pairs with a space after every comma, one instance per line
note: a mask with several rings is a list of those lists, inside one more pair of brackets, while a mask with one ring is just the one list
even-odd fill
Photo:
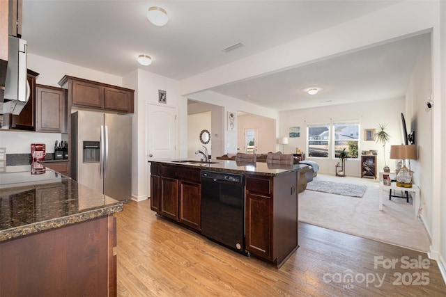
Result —
[[[397, 186], [403, 188], [412, 188], [412, 171], [410, 171], [410, 160], [417, 159], [417, 148], [415, 145], [391, 145], [390, 159], [399, 159], [403, 161], [403, 167], [397, 174]], [[406, 160], [409, 168], [406, 167]]]

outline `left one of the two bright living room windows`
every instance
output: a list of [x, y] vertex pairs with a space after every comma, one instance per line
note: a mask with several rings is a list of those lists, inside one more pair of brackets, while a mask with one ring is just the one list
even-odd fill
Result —
[[308, 156], [328, 158], [330, 125], [308, 126]]

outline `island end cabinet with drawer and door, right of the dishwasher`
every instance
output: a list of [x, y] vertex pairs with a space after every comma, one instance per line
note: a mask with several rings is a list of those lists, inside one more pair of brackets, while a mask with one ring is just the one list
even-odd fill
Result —
[[246, 249], [282, 266], [298, 248], [298, 172], [246, 175]]

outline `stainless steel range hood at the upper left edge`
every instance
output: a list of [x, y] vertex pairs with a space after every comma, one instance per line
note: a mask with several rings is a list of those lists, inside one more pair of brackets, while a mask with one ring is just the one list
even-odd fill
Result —
[[28, 102], [30, 90], [26, 80], [26, 40], [9, 36], [8, 69], [6, 70], [5, 93], [0, 102], [0, 113], [20, 114]]

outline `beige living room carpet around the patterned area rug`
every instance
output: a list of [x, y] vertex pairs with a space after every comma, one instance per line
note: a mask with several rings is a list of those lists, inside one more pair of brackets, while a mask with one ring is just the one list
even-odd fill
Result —
[[[367, 185], [360, 199], [303, 191], [299, 193], [299, 220], [331, 230], [429, 252], [430, 241], [422, 221], [415, 217], [412, 200], [387, 197], [378, 209], [379, 183], [374, 179], [319, 175], [315, 180]], [[398, 193], [397, 193], [398, 194]]]

